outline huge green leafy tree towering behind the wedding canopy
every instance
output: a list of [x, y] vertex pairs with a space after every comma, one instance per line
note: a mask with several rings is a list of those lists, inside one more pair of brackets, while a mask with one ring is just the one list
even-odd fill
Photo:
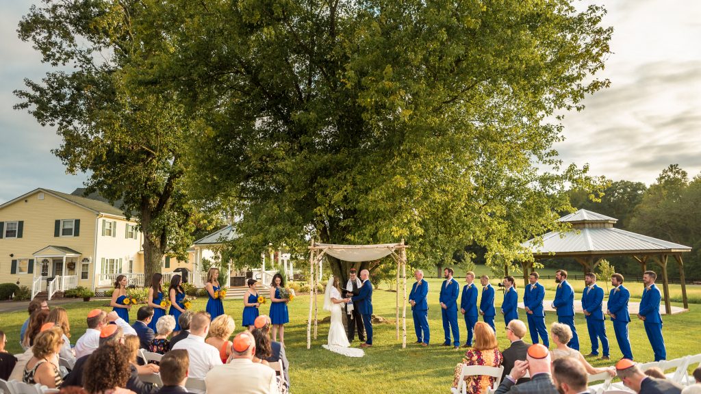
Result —
[[[236, 196], [240, 264], [268, 242], [476, 243], [510, 264], [591, 179], [554, 114], [607, 85], [605, 11], [569, 1], [170, 1], [167, 76], [206, 128], [200, 196]], [[348, 264], [332, 260], [345, 277]], [[358, 265], [358, 264], [356, 264]], [[360, 264], [361, 268], [364, 266]], [[365, 264], [367, 266], [367, 264]]]

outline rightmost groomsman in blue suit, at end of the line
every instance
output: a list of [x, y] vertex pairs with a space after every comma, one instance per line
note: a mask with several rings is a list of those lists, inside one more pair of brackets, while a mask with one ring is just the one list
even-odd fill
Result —
[[660, 316], [662, 293], [655, 286], [656, 278], [655, 271], [643, 273], [645, 290], [643, 290], [643, 298], [640, 300], [638, 318], [643, 320], [645, 332], [648, 334], [648, 339], [655, 352], [655, 361], [660, 361], [667, 360], [667, 350], [665, 349], [665, 339], [662, 337], [662, 316]]

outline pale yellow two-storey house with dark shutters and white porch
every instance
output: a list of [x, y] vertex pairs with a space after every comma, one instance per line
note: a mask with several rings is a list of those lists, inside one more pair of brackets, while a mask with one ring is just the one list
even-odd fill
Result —
[[135, 226], [104, 201], [30, 191], [0, 205], [0, 283], [30, 287], [32, 297], [79, 285], [111, 287], [121, 273], [143, 286], [142, 234]]

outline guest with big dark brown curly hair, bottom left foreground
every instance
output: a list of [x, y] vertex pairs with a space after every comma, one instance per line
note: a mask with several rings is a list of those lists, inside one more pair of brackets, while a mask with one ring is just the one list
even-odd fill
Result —
[[90, 355], [81, 381], [88, 394], [107, 394], [125, 387], [130, 376], [129, 351], [121, 344], [109, 342]]

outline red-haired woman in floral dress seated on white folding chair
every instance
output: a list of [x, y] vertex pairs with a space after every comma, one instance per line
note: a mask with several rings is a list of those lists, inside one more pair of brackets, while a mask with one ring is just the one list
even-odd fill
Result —
[[[463, 362], [455, 367], [453, 377], [453, 388], [456, 392], [458, 381], [465, 365], [486, 365], [487, 367], [498, 367], [501, 365], [503, 356], [499, 351], [499, 343], [496, 341], [494, 330], [486, 322], [475, 324], [475, 347], [465, 353]], [[465, 385], [467, 392], [480, 394], [494, 384], [493, 376], [466, 376]]]

